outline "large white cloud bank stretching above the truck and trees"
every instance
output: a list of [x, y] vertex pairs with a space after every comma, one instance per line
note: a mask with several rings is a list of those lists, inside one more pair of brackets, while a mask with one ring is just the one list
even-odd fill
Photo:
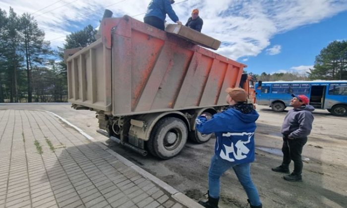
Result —
[[[183, 2], [182, 2], [183, 1]], [[88, 24], [96, 27], [104, 9], [114, 17], [125, 14], [143, 20], [150, 0], [1, 0], [0, 8], [11, 6], [21, 15], [33, 13], [46, 32], [46, 40], [62, 46], [65, 36]], [[181, 3], [179, 3], [181, 2]], [[68, 5], [66, 5], [68, 4]], [[317, 23], [347, 10], [347, 0], [269, 1], [269, 0], [176, 0], [173, 9], [185, 23], [192, 8], [199, 8], [204, 20], [202, 32], [223, 42], [218, 52], [237, 59], [256, 56], [270, 46], [270, 39], [279, 33]], [[168, 23], [172, 23], [167, 17]]]

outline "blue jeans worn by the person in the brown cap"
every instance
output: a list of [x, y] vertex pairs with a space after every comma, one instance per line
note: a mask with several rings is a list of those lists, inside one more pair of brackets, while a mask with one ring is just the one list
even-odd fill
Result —
[[220, 156], [214, 155], [211, 159], [211, 166], [208, 171], [209, 195], [212, 198], [219, 198], [221, 189], [220, 177], [231, 168], [235, 171], [238, 181], [247, 193], [247, 197], [252, 206], [261, 205], [257, 188], [254, 186], [250, 175], [250, 163], [235, 164]]

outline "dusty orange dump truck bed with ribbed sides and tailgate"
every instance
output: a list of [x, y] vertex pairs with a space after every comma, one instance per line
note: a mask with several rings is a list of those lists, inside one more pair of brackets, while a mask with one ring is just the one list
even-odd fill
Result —
[[67, 58], [72, 104], [134, 115], [225, 105], [244, 64], [129, 16], [106, 18], [102, 38]]

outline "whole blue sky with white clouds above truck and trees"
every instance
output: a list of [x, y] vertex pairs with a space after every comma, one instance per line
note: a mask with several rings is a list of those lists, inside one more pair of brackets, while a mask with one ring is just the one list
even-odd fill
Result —
[[[143, 21], [150, 0], [0, 0], [18, 15], [30, 13], [51, 46], [88, 24], [97, 28], [104, 10]], [[347, 0], [175, 0], [173, 9], [185, 24], [194, 8], [202, 33], [222, 41], [215, 51], [246, 64], [247, 72], [305, 73], [315, 56], [338, 40], [347, 40]], [[173, 21], [167, 16], [168, 23]]]

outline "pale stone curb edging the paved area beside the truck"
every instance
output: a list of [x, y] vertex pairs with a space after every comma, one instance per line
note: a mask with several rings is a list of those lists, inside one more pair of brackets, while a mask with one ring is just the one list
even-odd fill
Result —
[[123, 162], [126, 166], [131, 167], [132, 169], [134, 169], [136, 172], [138, 172], [143, 177], [151, 180], [153, 183], [157, 184], [158, 186], [163, 188], [165, 191], [169, 192], [173, 199], [175, 199], [177, 202], [181, 203], [182, 205], [186, 206], [187, 208], [203, 208], [200, 204], [198, 204], [194, 200], [190, 199], [189, 197], [187, 197], [183, 193], [177, 191], [176, 189], [174, 189], [169, 184], [165, 183], [164, 181], [160, 180], [156, 176], [152, 175], [151, 173], [149, 173], [146, 170], [142, 169], [141, 167], [137, 166], [136, 164], [134, 164], [130, 160], [126, 159], [125, 157], [123, 157], [123, 156], [119, 155], [118, 153], [114, 152], [109, 147], [107, 147], [104, 143], [96, 141], [93, 137], [89, 136], [82, 129], [80, 129], [77, 126], [71, 124], [66, 119], [62, 118], [61, 116], [57, 115], [56, 113], [51, 112], [51, 111], [47, 111], [47, 110], [38, 110], [38, 111], [49, 112], [49, 113], [53, 114], [54, 116], [58, 117], [61, 121], [63, 121], [67, 125], [71, 126], [72, 128], [76, 129], [79, 133], [81, 133], [83, 136], [85, 136], [88, 140], [90, 140], [91, 142], [94, 142], [99, 147], [101, 147], [103, 150], [105, 150], [106, 152], [108, 152], [111, 155], [115, 156], [119, 161]]

